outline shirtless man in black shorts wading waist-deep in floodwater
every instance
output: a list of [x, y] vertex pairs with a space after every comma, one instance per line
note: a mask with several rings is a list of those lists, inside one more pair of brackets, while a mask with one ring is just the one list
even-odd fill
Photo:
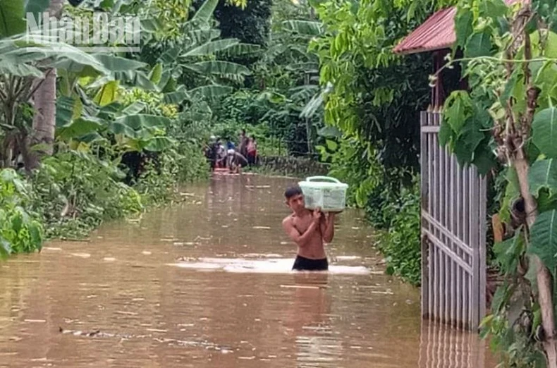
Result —
[[325, 215], [321, 209], [305, 208], [304, 196], [298, 186], [284, 193], [286, 204], [293, 213], [282, 221], [284, 231], [298, 245], [298, 255], [292, 269], [302, 271], [325, 271], [329, 262], [324, 243], [331, 243], [334, 236], [335, 214]]

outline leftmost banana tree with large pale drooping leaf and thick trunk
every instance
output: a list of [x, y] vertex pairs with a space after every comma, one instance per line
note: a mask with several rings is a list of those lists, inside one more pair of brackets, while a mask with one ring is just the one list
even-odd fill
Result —
[[[121, 1], [125, 4], [129, 1]], [[23, 35], [23, 14], [38, 16], [45, 10], [56, 15], [63, 1], [16, 0], [0, 3], [0, 118], [2, 145], [0, 165], [11, 166], [13, 154], [21, 154], [25, 168], [37, 166], [37, 150], [50, 153], [54, 127], [63, 116], [56, 116], [56, 76], [61, 84], [58, 92], [75, 100], [78, 81], [87, 77], [104, 85], [114, 80], [156, 90], [149, 80], [145, 63], [110, 54], [87, 54], [75, 47], [33, 35], [32, 42]], [[50, 8], [48, 6], [50, 5]], [[53, 13], [54, 12], [54, 13]], [[77, 101], [77, 100], [75, 100]], [[32, 107], [35, 107], [33, 114]], [[77, 106], [77, 105], [76, 105]], [[78, 110], [74, 106], [74, 116]], [[62, 124], [71, 123], [65, 121]]]

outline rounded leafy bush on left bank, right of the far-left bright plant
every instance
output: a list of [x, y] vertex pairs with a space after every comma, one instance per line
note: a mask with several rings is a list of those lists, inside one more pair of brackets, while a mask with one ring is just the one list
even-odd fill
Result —
[[82, 238], [103, 221], [142, 210], [141, 197], [121, 180], [111, 161], [92, 154], [63, 152], [43, 159], [31, 179], [32, 208], [47, 238]]

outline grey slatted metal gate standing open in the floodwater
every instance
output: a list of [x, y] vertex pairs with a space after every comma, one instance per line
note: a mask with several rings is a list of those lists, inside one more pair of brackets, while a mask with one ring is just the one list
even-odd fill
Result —
[[439, 146], [441, 114], [422, 111], [422, 316], [477, 329], [486, 302], [486, 180]]

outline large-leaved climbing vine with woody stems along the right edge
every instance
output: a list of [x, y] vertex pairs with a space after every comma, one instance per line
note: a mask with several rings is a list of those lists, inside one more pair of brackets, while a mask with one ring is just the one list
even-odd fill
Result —
[[[455, 91], [446, 101], [441, 143], [480, 173], [497, 173], [496, 158], [506, 166], [498, 173], [499, 213], [512, 235], [494, 246], [505, 282], [483, 333], [507, 367], [545, 367], [542, 343], [551, 344], [544, 333], [553, 327], [548, 332], [542, 322], [555, 322], [541, 318], [554, 309], [557, 266], [557, 37], [554, 11], [542, 3], [459, 1], [453, 56], [460, 47], [463, 58], [450, 56], [446, 65], [463, 65], [471, 92]], [[537, 271], [537, 259], [550, 278]], [[553, 300], [538, 298], [542, 288]]]

